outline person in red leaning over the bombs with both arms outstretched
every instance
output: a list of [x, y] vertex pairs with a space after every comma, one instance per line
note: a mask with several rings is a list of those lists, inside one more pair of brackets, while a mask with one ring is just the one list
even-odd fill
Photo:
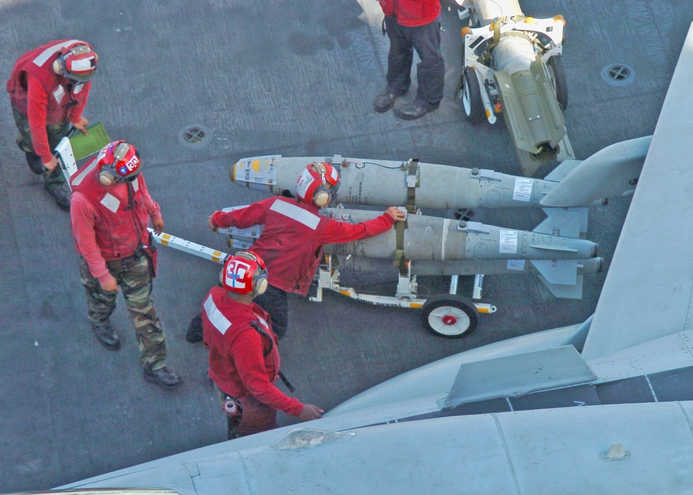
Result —
[[[287, 293], [308, 294], [323, 245], [377, 236], [390, 229], [396, 220], [405, 219], [404, 211], [398, 207], [390, 207], [384, 214], [356, 225], [320, 215], [319, 210], [329, 204], [339, 184], [337, 168], [326, 162], [313, 162], [299, 175], [298, 198], [273, 196], [242, 209], [215, 211], [209, 217], [211, 229], [265, 226], [250, 247], [265, 260], [270, 274], [269, 286], [256, 302], [272, 316], [279, 338], [286, 334], [288, 326]], [[199, 316], [188, 327], [186, 340], [201, 340]]]

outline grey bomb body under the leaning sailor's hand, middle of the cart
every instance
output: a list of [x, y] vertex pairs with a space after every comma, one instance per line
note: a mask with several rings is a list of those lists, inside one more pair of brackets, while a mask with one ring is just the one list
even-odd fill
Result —
[[[359, 223], [380, 212], [356, 209], [325, 209], [337, 220]], [[405, 259], [452, 261], [464, 259], [590, 259], [597, 245], [579, 238], [506, 229], [495, 225], [464, 222], [433, 216], [409, 215], [401, 242]], [[333, 244], [328, 254], [394, 259], [398, 250], [396, 229], [352, 243]]]

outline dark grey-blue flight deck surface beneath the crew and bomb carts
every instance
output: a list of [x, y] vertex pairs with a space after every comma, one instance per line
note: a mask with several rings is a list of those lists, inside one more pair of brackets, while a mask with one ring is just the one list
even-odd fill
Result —
[[[522, 7], [568, 23], [564, 116], [577, 158], [653, 133], [693, 3], [533, 0]], [[521, 173], [502, 120], [471, 125], [453, 99], [462, 38], [448, 3], [441, 14], [444, 100], [411, 122], [371, 110], [385, 87], [388, 46], [375, 0], [0, 0], [0, 14], [3, 80], [19, 55], [50, 40], [94, 45], [100, 65], [85, 116], [137, 146], [166, 232], [219, 250], [227, 248], [209, 231], [209, 214], [263, 198], [229, 180], [240, 157], [417, 157]], [[626, 80], [608, 77], [624, 70]], [[91, 335], [69, 215], [28, 171], [8, 98], [0, 107], [0, 492], [56, 487], [225, 440], [207, 351], [184, 338], [220, 267], [161, 248], [155, 305], [169, 363], [184, 383], [175, 390], [147, 383], [121, 297], [112, 321], [123, 347], [107, 351]], [[204, 137], [195, 143], [191, 134]], [[590, 211], [588, 238], [599, 243], [607, 268], [628, 206], [629, 198], [612, 198]], [[529, 230], [545, 218], [541, 209], [476, 213], [484, 223]], [[417, 311], [336, 294], [322, 303], [290, 297], [283, 371], [295, 397], [329, 409], [438, 358], [581, 322], [595, 310], [604, 276], [586, 275], [579, 301], [556, 299], [535, 277], [486, 277], [483, 300], [498, 312], [480, 315], [477, 330], [459, 340], [424, 331]], [[377, 274], [344, 277], [358, 288], [394, 290], [395, 281]], [[460, 286], [471, 294], [471, 281]], [[423, 297], [447, 288], [444, 277], [419, 279]], [[280, 414], [281, 425], [292, 422]]]

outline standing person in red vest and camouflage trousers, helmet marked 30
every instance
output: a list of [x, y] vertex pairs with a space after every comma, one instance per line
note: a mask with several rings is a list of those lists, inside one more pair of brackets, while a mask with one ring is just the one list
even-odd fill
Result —
[[96, 338], [107, 349], [121, 347], [110, 322], [121, 290], [135, 327], [144, 379], [174, 388], [181, 379], [166, 365], [164, 332], [151, 299], [157, 253], [147, 227], [151, 219], [155, 232], [163, 232], [164, 218], [140, 172], [134, 146], [125, 141], [104, 146], [71, 177], [72, 234]]

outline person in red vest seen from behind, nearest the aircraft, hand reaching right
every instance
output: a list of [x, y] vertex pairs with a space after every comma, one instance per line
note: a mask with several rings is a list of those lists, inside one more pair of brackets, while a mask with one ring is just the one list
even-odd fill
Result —
[[302, 404], [274, 386], [279, 340], [270, 315], [253, 302], [267, 289], [261, 257], [247, 251], [229, 257], [221, 283], [204, 299], [202, 327], [209, 348], [209, 378], [227, 413], [229, 440], [277, 428], [277, 410], [301, 421], [322, 417], [322, 409]]

